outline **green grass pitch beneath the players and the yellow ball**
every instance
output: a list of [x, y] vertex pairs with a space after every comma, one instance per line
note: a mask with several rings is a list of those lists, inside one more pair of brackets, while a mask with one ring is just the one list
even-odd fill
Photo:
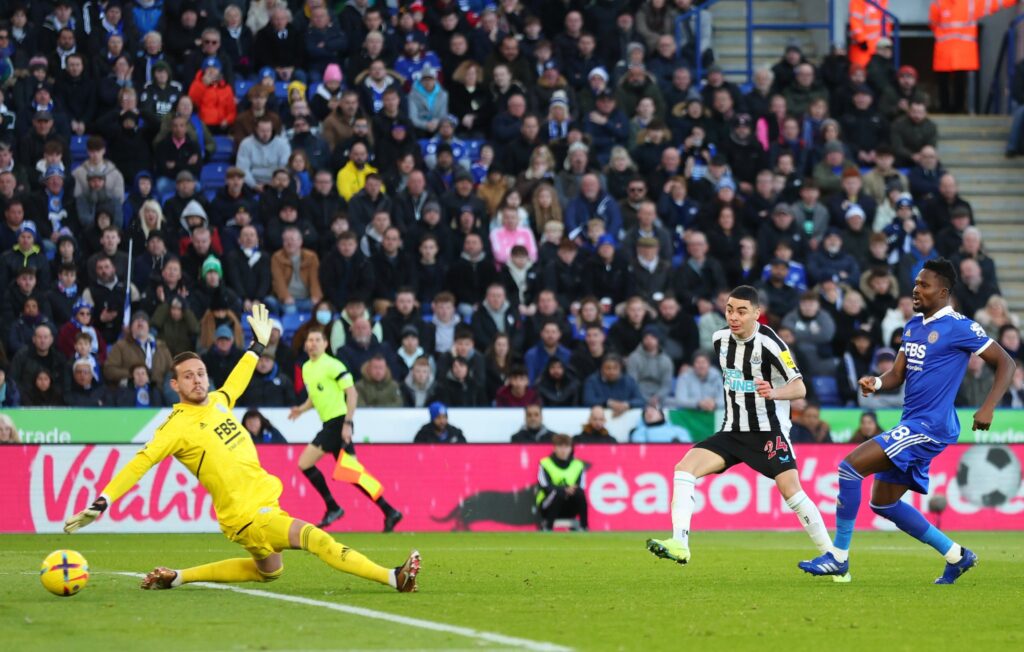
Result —
[[[335, 536], [386, 565], [418, 548], [420, 592], [398, 595], [301, 552], [285, 554], [279, 581], [238, 586], [577, 650], [1024, 649], [1024, 532], [955, 533], [981, 563], [953, 586], [932, 584], [941, 558], [902, 533], [856, 534], [850, 584], [797, 569], [811, 556], [802, 532], [697, 532], [682, 567], [650, 556], [645, 533]], [[91, 566], [73, 598], [49, 595], [35, 574], [58, 548]], [[544, 649], [204, 586], [143, 592], [116, 574], [240, 554], [214, 534], [0, 535], [0, 648]]]

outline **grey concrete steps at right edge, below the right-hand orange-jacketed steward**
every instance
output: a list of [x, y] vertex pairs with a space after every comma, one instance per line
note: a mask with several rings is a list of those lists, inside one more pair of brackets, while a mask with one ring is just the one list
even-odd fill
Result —
[[939, 159], [974, 208], [982, 243], [995, 260], [1002, 295], [1024, 312], [1024, 160], [1002, 156], [1008, 116], [932, 116]]

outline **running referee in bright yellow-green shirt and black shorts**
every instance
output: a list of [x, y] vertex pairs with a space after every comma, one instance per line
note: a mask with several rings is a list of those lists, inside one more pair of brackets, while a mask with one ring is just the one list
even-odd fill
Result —
[[302, 365], [302, 382], [309, 397], [288, 415], [294, 421], [303, 412], [315, 408], [324, 422], [324, 427], [299, 455], [299, 469], [327, 506], [318, 527], [327, 527], [345, 514], [345, 510], [334, 499], [324, 474], [316, 468], [321, 458], [330, 452], [338, 461], [334, 479], [356, 486], [373, 501], [384, 514], [384, 531], [390, 532], [401, 520], [401, 512], [384, 499], [384, 487], [380, 481], [355, 459], [352, 418], [358, 395], [352, 375], [341, 360], [327, 352], [327, 334], [323, 329], [311, 329], [306, 334], [305, 351], [309, 359]]

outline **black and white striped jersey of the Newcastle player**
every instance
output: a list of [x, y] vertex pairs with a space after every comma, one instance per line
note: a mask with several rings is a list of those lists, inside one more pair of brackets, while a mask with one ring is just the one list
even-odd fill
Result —
[[724, 379], [722, 431], [788, 436], [790, 401], [762, 398], [754, 384], [755, 380], [764, 379], [772, 387], [782, 387], [801, 377], [785, 342], [763, 323], [758, 324], [748, 340], [737, 340], [731, 331], [723, 329], [715, 333], [713, 342]]

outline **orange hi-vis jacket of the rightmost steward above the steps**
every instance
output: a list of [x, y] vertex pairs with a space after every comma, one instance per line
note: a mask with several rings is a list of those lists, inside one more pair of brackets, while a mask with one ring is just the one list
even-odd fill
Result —
[[932, 69], [936, 73], [977, 71], [978, 20], [1017, 0], [934, 0], [928, 21], [935, 35]]

